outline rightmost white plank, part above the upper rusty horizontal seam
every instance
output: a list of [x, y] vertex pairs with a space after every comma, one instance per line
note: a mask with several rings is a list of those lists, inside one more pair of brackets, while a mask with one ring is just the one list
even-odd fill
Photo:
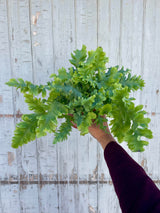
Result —
[[[160, 112], [159, 52], [160, 52], [160, 2], [144, 1], [144, 33], [142, 50], [142, 76], [146, 82], [141, 93], [141, 103], [148, 112]], [[154, 103], [154, 104], [153, 104]]]

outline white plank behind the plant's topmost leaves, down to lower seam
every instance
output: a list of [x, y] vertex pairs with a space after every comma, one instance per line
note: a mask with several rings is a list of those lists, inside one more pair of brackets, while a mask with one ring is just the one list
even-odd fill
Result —
[[[97, 2], [77, 1], [76, 3], [76, 40], [77, 48], [82, 44], [87, 46], [87, 50], [95, 50], [97, 47]], [[78, 140], [78, 164], [79, 180], [88, 178], [97, 179], [97, 142], [89, 134], [79, 135]], [[94, 173], [95, 171], [95, 173]], [[88, 176], [89, 175], [89, 176]]]

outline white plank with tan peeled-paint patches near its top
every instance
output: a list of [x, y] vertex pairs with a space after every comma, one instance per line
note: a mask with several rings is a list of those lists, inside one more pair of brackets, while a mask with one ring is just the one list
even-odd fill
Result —
[[[31, 42], [33, 57], [33, 81], [36, 84], [46, 84], [50, 81], [51, 73], [55, 72], [55, 52], [53, 46], [53, 5], [52, 1], [31, 1]], [[38, 203], [40, 212], [58, 211], [57, 187], [54, 186], [51, 202], [48, 197], [48, 181], [57, 180], [56, 146], [52, 144], [53, 134], [37, 139], [37, 174], [38, 174]], [[45, 181], [45, 184], [43, 184]], [[47, 201], [47, 198], [49, 199]], [[47, 201], [47, 202], [46, 202]], [[52, 204], [51, 204], [51, 203]]]

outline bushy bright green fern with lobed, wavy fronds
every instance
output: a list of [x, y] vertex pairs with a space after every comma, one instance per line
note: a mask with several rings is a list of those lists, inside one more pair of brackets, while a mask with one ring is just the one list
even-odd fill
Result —
[[[54, 144], [66, 140], [72, 130], [71, 121], [77, 124], [81, 135], [88, 133], [93, 120], [106, 131], [103, 123], [108, 117], [111, 132], [119, 143], [126, 141], [132, 151], [144, 151], [148, 142], [141, 137], [153, 137], [148, 129], [150, 119], [144, 117], [143, 105], [135, 106], [135, 99], [129, 97], [131, 91], [144, 87], [141, 76], [132, 76], [124, 67], [107, 68], [108, 58], [101, 47], [87, 52], [83, 45], [71, 57], [73, 66], [68, 71], [62, 67], [58, 74], [51, 74], [53, 80], [46, 85], [34, 85], [21, 78], [6, 83], [24, 93], [25, 102], [33, 112], [23, 115], [17, 124], [12, 146], [17, 148], [47, 132], [54, 133]], [[42, 98], [36, 97], [40, 95]], [[65, 121], [57, 130], [59, 118]]]

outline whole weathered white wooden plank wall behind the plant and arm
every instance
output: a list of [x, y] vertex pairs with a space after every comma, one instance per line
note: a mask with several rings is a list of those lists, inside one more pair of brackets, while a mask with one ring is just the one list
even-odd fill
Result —
[[4, 83], [21, 77], [40, 84], [68, 67], [70, 53], [102, 46], [111, 65], [124, 65], [146, 82], [133, 94], [144, 104], [154, 139], [131, 153], [160, 187], [160, 1], [0, 0], [0, 213], [119, 213], [103, 150], [73, 129], [15, 150], [11, 139], [30, 112], [19, 91]]

